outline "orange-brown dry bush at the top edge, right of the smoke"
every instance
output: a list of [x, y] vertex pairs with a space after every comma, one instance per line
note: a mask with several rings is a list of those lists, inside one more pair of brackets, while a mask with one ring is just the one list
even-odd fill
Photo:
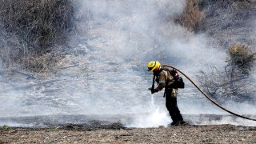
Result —
[[175, 18], [175, 22], [185, 26], [189, 31], [198, 31], [204, 12], [199, 10], [199, 0], [187, 0], [182, 14]]

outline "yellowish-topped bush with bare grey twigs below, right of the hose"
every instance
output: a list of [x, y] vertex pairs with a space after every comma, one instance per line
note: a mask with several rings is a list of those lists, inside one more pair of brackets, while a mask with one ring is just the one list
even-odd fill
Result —
[[254, 81], [248, 76], [254, 66], [255, 53], [241, 44], [234, 44], [227, 51], [229, 59], [226, 61], [226, 73], [211, 68], [207, 73], [201, 71], [198, 80], [207, 94], [221, 104], [227, 100], [249, 102], [254, 94]]

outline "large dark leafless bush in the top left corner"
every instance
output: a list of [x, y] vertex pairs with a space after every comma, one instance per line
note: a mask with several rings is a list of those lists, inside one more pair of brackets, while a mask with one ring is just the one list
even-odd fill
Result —
[[71, 0], [2, 0], [0, 58], [6, 66], [22, 63], [30, 70], [30, 61], [37, 62], [38, 56], [49, 53], [54, 44], [66, 42], [67, 33], [73, 30]]

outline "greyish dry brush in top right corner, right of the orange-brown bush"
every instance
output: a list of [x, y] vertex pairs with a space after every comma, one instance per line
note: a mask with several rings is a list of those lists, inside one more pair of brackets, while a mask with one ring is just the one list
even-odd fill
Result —
[[256, 19], [256, 1], [226, 0], [207, 2], [203, 32], [215, 38], [222, 48], [227, 49], [234, 43], [256, 45], [254, 20]]

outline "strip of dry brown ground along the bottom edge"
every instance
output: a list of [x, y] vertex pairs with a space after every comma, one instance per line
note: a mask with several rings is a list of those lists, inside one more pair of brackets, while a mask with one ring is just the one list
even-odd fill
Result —
[[58, 126], [0, 130], [0, 143], [255, 143], [256, 127], [171, 126], [125, 128], [109, 126]]

